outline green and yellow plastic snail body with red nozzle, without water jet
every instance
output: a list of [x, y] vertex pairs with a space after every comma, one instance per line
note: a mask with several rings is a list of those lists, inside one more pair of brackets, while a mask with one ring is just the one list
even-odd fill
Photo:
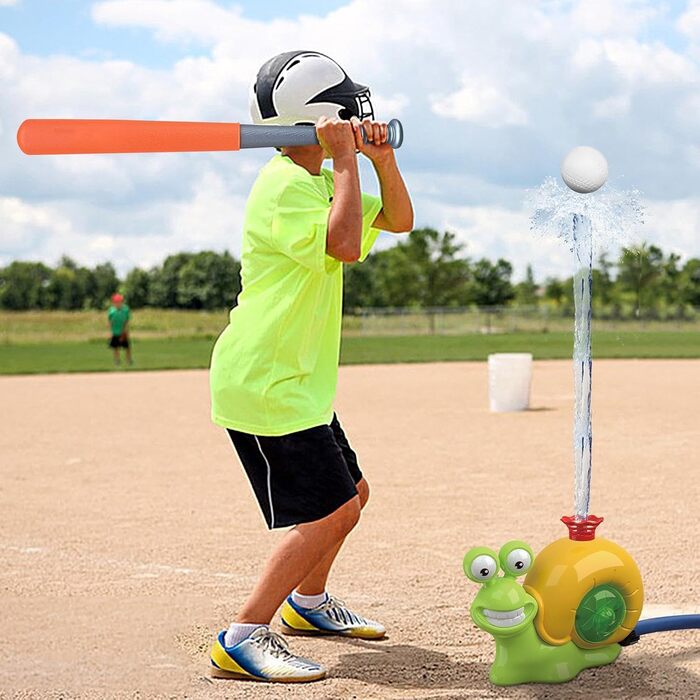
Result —
[[602, 518], [563, 520], [570, 536], [537, 557], [518, 540], [498, 554], [474, 547], [464, 557], [465, 574], [481, 584], [472, 619], [496, 641], [496, 685], [560, 683], [612, 663], [639, 620], [644, 595], [632, 557], [593, 537]]

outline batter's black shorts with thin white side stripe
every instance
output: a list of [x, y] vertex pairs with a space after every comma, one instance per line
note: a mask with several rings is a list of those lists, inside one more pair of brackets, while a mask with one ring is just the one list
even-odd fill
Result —
[[279, 437], [227, 432], [270, 529], [320, 520], [357, 495], [362, 472], [336, 415]]

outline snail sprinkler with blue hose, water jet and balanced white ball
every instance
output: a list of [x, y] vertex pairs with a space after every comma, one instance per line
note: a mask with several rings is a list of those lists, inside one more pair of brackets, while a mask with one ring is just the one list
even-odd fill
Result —
[[[619, 239], [641, 220], [638, 193], [611, 188], [596, 149], [579, 146], [564, 158], [563, 189], [548, 178], [533, 197], [533, 229], [565, 240], [574, 253], [575, 511], [562, 518], [568, 537], [537, 556], [519, 540], [496, 554], [474, 547], [464, 573], [480, 584], [471, 617], [496, 642], [490, 679], [496, 685], [561, 683], [610, 664], [641, 635], [700, 628], [700, 615], [641, 620], [642, 577], [632, 557], [602, 537], [603, 518], [589, 514], [591, 484], [591, 289], [593, 237]], [[499, 571], [502, 575], [499, 576]], [[524, 582], [518, 578], [525, 576]]]

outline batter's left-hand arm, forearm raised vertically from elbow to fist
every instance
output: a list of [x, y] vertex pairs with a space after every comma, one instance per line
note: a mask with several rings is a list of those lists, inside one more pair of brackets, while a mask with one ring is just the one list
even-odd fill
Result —
[[328, 215], [326, 252], [341, 262], [360, 258], [362, 198], [353, 128], [347, 121], [321, 117], [316, 125], [321, 146], [333, 159], [333, 204]]

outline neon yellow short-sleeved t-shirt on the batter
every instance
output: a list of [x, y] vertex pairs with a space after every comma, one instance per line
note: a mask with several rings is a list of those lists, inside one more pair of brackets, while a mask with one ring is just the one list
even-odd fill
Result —
[[[212, 419], [255, 435], [330, 423], [338, 378], [343, 265], [326, 254], [333, 173], [275, 156], [246, 204], [242, 291], [211, 358]], [[381, 200], [362, 195], [362, 253]]]

